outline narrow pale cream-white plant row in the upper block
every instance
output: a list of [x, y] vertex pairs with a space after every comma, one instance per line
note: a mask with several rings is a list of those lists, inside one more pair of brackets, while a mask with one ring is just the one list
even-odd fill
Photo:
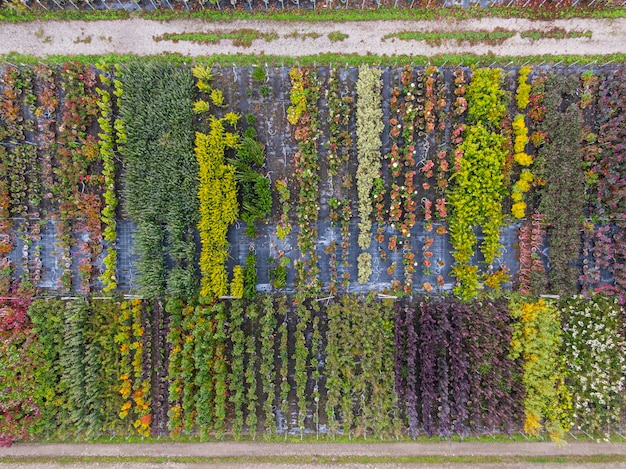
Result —
[[[356, 84], [356, 135], [359, 167], [356, 174], [356, 186], [359, 198], [359, 247], [369, 248], [372, 242], [372, 222], [370, 216], [373, 209], [372, 188], [374, 180], [381, 170], [380, 135], [384, 129], [382, 110], [382, 72], [376, 68], [363, 65], [359, 68], [359, 79]], [[365, 283], [371, 275], [371, 256], [359, 255], [359, 282]], [[368, 273], [369, 272], [369, 273]]]

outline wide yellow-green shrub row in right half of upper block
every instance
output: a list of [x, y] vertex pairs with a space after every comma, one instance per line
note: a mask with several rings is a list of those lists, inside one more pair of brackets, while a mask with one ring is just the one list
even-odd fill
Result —
[[470, 264], [477, 242], [473, 231], [476, 226], [482, 228], [484, 235], [480, 250], [487, 266], [485, 285], [501, 283], [489, 281], [502, 247], [500, 228], [504, 225], [502, 201], [506, 193], [508, 152], [506, 137], [498, 133], [506, 114], [501, 82], [500, 69], [474, 70], [466, 94], [467, 120], [471, 125], [465, 129], [450, 177], [448, 201], [452, 210], [448, 219], [455, 260], [451, 273], [457, 279], [454, 292], [464, 299], [475, 296], [480, 288], [479, 269]]

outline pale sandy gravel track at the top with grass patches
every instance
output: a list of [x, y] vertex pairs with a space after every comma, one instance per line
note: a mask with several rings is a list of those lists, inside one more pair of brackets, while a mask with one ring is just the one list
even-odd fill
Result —
[[[519, 32], [526, 30], [591, 31], [591, 38], [523, 39]], [[226, 32], [243, 28], [261, 33], [276, 33], [271, 41], [257, 39], [251, 47], [236, 47], [231, 40], [216, 44], [194, 44], [189, 41], [156, 41], [165, 33]], [[518, 34], [500, 45], [457, 43], [446, 41], [439, 46], [424, 42], [384, 40], [384, 36], [399, 31], [462, 31], [503, 28]], [[348, 37], [332, 42], [328, 34], [341, 32]], [[317, 33], [317, 38], [304, 37]], [[294, 37], [296, 35], [296, 37]], [[570, 19], [531, 21], [519, 18], [486, 18], [466, 21], [377, 21], [345, 23], [299, 23], [276, 21], [232, 21], [207, 23], [201, 20], [174, 20], [168, 22], [145, 19], [117, 21], [48, 21], [30, 23], [0, 23], [0, 54], [19, 52], [39, 57], [55, 54], [133, 53], [154, 55], [177, 52], [189, 56], [212, 54], [267, 54], [298, 57], [318, 53], [354, 53], [374, 55], [436, 55], [443, 53], [475, 53], [497, 55], [543, 54], [612, 54], [626, 52], [626, 18]]]

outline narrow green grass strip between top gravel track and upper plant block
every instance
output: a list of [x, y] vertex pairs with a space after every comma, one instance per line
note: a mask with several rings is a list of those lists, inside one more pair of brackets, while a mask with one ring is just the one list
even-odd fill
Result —
[[404, 66], [404, 65], [476, 65], [476, 66], [509, 66], [509, 65], [603, 65], [606, 63], [626, 62], [626, 54], [608, 55], [532, 55], [525, 57], [509, 57], [495, 55], [474, 55], [474, 54], [445, 54], [426, 56], [378, 56], [378, 55], [357, 55], [357, 54], [319, 54], [306, 57], [286, 57], [277, 55], [210, 55], [203, 57], [187, 57], [181, 54], [162, 54], [158, 56], [141, 57], [132, 54], [108, 54], [108, 55], [55, 55], [45, 59], [22, 54], [0, 55], [0, 61], [14, 64], [36, 64], [38, 62], [54, 64], [68, 61], [79, 61], [83, 63], [95, 64], [101, 61], [111, 63], [129, 63], [138, 60], [157, 60], [174, 64], [215, 64], [230, 67], [233, 64], [238, 66], [265, 65], [270, 66], [312, 66], [312, 65], [338, 65], [354, 66], [362, 64], [376, 66]]

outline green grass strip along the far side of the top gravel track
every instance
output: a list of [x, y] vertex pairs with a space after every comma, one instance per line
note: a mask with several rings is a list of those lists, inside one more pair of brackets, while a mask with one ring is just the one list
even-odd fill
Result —
[[207, 10], [189, 11], [9, 11], [0, 10], [0, 21], [24, 22], [34, 20], [116, 20], [123, 18], [146, 18], [156, 21], [174, 19], [201, 19], [205, 21], [233, 21], [243, 19], [264, 19], [274, 21], [378, 21], [378, 20], [463, 20], [480, 18], [527, 18], [536, 20], [553, 20], [565, 18], [624, 18], [626, 9], [621, 7], [564, 7], [556, 9], [524, 8], [524, 7], [489, 7], [489, 8], [415, 8], [379, 10], [277, 10], [277, 11], [231, 11]]

